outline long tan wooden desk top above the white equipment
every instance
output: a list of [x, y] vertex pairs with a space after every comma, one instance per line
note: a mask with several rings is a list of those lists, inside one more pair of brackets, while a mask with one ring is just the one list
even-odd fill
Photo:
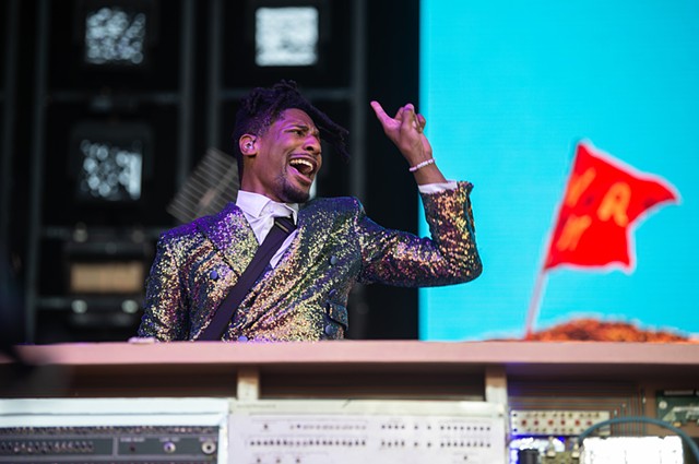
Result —
[[74, 343], [19, 353], [43, 371], [28, 391], [37, 396], [235, 396], [240, 379], [260, 397], [484, 398], [490, 385], [547, 379], [699, 386], [697, 344]]

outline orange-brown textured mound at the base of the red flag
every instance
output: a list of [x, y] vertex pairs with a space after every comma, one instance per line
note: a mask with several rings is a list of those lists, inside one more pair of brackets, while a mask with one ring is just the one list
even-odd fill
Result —
[[526, 340], [542, 342], [591, 341], [591, 342], [685, 342], [699, 343], [687, 336], [667, 332], [649, 331], [627, 322], [605, 322], [596, 319], [574, 319], [545, 331], [535, 332]]

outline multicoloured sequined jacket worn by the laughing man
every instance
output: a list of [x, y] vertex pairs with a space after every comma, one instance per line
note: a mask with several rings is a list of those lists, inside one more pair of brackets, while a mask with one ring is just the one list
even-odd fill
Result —
[[[353, 285], [438, 286], [481, 273], [469, 193], [423, 194], [431, 239], [383, 228], [354, 198], [319, 199], [298, 214], [298, 234], [276, 267], [250, 289], [223, 340], [342, 338]], [[161, 237], [146, 282], [139, 336], [197, 340], [258, 248], [229, 204]]]

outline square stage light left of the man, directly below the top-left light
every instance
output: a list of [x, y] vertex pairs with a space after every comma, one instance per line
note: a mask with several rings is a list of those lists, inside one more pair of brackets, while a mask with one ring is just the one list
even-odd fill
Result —
[[75, 126], [71, 155], [79, 201], [130, 203], [141, 199], [151, 130], [144, 123]]

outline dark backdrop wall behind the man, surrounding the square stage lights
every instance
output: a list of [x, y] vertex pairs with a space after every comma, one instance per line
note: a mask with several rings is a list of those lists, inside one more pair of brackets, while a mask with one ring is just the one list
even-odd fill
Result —
[[[362, 194], [367, 212], [384, 226], [416, 230], [413, 178], [383, 135], [368, 99], [379, 99], [389, 112], [406, 102], [418, 104], [419, 2], [366, 1], [362, 24], [355, 24], [354, 1], [309, 1], [320, 12], [319, 62], [310, 68], [254, 64], [254, 9], [289, 5], [291, 1], [15, 2], [19, 11], [13, 38], [21, 53], [13, 68], [16, 85], [11, 108], [5, 105], [7, 73], [0, 76], [0, 127], [7, 127], [8, 117], [14, 123], [12, 144], [0, 153], [3, 166], [12, 170], [5, 177], [11, 178], [10, 187], [3, 190], [3, 204], [12, 206], [8, 215], [11, 226], [2, 236], [2, 250], [8, 255], [0, 258], [9, 270], [5, 275], [11, 275], [13, 294], [19, 295], [13, 304], [24, 312], [15, 322], [28, 324], [25, 341], [126, 340], [133, 334], [140, 314], [133, 314], [129, 305], [128, 310], [123, 308], [125, 301], [140, 295], [72, 294], [70, 261], [78, 254], [83, 257], [84, 248], [80, 247], [87, 245], [103, 250], [96, 260], [111, 253], [106, 262], [119, 261], [119, 255], [108, 250], [132, 252], [135, 240], [143, 246], [140, 259], [147, 269], [158, 234], [177, 224], [166, 206], [181, 187], [181, 172], [191, 171], [210, 144], [230, 153], [237, 99], [251, 87], [279, 79], [296, 80], [332, 119], [351, 131], [366, 133], [360, 146], [351, 144], [350, 148], [366, 165], [359, 175], [366, 186]], [[0, 4], [2, 24], [11, 2]], [[125, 11], [147, 15], [143, 66], [85, 63], [84, 12], [117, 3]], [[47, 13], [46, 27], [39, 21], [43, 12]], [[357, 31], [365, 32], [363, 41], [354, 36]], [[357, 52], [356, 44], [360, 43], [366, 48]], [[3, 36], [0, 59], [9, 66], [5, 45]], [[46, 56], [40, 53], [43, 49]], [[187, 50], [193, 50], [193, 56], [188, 57]], [[357, 59], [363, 60], [359, 67]], [[358, 69], [366, 72], [357, 74]], [[355, 92], [366, 95], [367, 100], [357, 103]], [[357, 121], [360, 127], [355, 126]], [[76, 186], [83, 158], [76, 153], [75, 132], [81, 124], [100, 127], [95, 133], [102, 135], [109, 128], [121, 128], [117, 134], [122, 134], [123, 128], [146, 128], [149, 146], [138, 199], [81, 200]], [[140, 129], [134, 130], [133, 138], [139, 134]], [[346, 163], [329, 146], [324, 155], [318, 194], [353, 194], [356, 158]], [[351, 311], [355, 314], [355, 330], [351, 331], [355, 337], [416, 337], [414, 289], [362, 287], [351, 300]]]

